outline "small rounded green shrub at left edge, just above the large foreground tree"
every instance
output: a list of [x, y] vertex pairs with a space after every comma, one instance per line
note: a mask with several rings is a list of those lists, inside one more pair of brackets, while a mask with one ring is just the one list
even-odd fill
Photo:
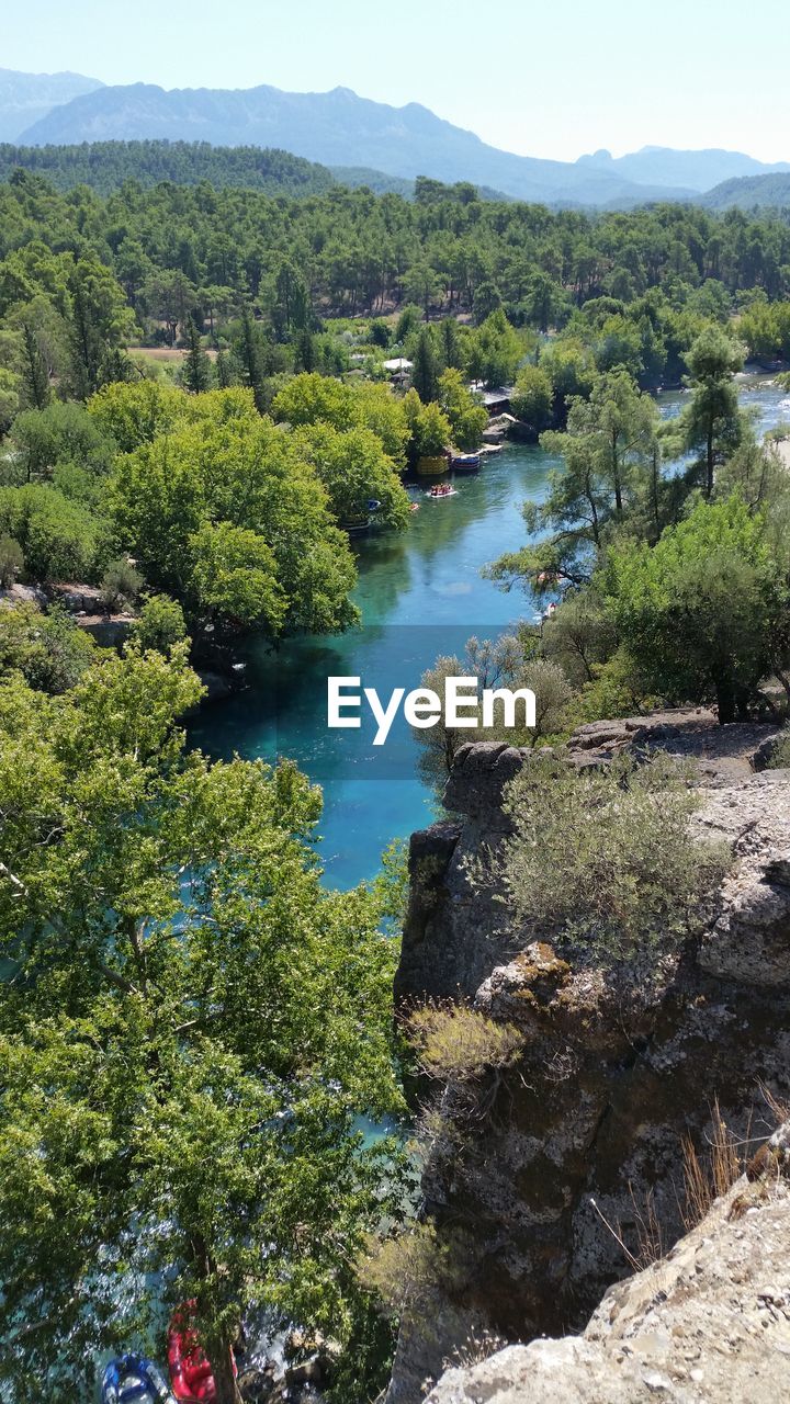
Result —
[[63, 609], [0, 608], [0, 680], [21, 673], [41, 692], [67, 692], [94, 657], [93, 639]]

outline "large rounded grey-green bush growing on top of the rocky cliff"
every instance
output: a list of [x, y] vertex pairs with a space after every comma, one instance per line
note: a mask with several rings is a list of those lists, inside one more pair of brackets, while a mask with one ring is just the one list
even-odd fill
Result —
[[514, 834], [498, 869], [516, 917], [616, 959], [678, 943], [730, 863], [727, 845], [689, 840], [696, 807], [663, 754], [583, 771], [536, 755], [505, 799]]

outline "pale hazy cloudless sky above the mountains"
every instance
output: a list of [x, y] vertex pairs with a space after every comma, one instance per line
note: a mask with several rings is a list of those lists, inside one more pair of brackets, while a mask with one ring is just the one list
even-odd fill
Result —
[[725, 146], [790, 160], [786, 0], [3, 0], [0, 66], [105, 83], [423, 102], [572, 160]]

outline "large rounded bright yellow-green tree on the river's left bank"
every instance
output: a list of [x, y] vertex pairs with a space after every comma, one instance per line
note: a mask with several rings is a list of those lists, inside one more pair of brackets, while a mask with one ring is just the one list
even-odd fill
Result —
[[117, 531], [146, 578], [233, 626], [344, 628], [354, 566], [312, 465], [247, 392], [183, 399], [193, 423], [121, 459], [112, 484]]

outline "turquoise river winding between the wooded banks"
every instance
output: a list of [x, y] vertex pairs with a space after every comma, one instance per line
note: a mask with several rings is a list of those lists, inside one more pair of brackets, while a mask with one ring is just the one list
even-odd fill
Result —
[[[739, 392], [744, 407], [755, 410], [759, 432], [790, 418], [786, 392], [765, 376], [739, 378]], [[659, 396], [662, 416], [673, 417], [683, 400], [685, 392]], [[460, 654], [470, 635], [492, 637], [516, 619], [531, 619], [536, 601], [529, 592], [502, 591], [481, 571], [524, 545], [520, 505], [545, 494], [555, 465], [537, 446], [506, 444], [478, 475], [454, 480], [454, 497], [429, 501], [412, 489], [420, 510], [406, 532], [357, 545], [354, 600], [363, 626], [340, 637], [290, 642], [277, 653], [253, 647], [249, 688], [204, 708], [193, 726], [193, 743], [212, 757], [285, 755], [322, 786], [319, 854], [332, 886], [371, 878], [392, 838], [432, 821], [433, 799], [402, 719], [378, 748], [365, 708], [358, 731], [328, 730], [328, 675], [358, 677], [387, 702], [395, 687], [417, 687], [439, 654]]]

